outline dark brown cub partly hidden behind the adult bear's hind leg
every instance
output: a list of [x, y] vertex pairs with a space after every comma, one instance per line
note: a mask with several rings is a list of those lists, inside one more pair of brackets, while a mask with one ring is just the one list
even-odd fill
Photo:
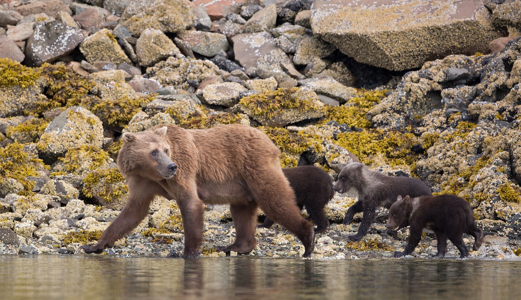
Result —
[[[300, 166], [282, 169], [290, 186], [295, 191], [297, 206], [302, 211], [306, 208], [308, 219], [317, 225], [315, 233], [326, 231], [329, 220], [324, 213], [324, 206], [333, 198], [333, 180], [323, 169], [316, 166]], [[266, 217], [257, 227], [270, 228], [274, 221]]]

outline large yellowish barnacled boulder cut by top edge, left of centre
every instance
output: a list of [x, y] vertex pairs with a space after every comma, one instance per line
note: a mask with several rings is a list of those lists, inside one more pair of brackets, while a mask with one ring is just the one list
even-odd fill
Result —
[[178, 32], [189, 28], [194, 16], [187, 0], [133, 0], [123, 12], [122, 25], [134, 36], [147, 28]]

